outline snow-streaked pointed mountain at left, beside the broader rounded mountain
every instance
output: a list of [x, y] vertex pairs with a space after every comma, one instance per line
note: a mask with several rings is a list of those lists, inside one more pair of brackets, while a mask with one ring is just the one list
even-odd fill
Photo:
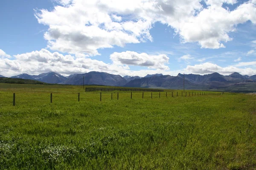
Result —
[[67, 79], [67, 77], [64, 77], [61, 74], [58, 74], [55, 72], [42, 73], [42, 74], [39, 74], [38, 76], [33, 75], [31, 77], [41, 82], [47, 82], [47, 83], [53, 83], [53, 84], [64, 82]]

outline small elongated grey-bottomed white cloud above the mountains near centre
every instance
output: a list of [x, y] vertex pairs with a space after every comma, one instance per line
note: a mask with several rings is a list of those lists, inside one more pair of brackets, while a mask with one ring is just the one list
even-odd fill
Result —
[[146, 53], [137, 53], [134, 51], [126, 51], [110, 55], [110, 59], [115, 65], [139, 65], [153, 69], [169, 70], [165, 64], [168, 63], [169, 57], [165, 54], [148, 55]]

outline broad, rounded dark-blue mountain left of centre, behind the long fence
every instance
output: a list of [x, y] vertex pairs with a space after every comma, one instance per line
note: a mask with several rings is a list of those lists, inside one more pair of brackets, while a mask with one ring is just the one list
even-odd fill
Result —
[[70, 85], [109, 85], [109, 86], [124, 86], [126, 80], [120, 75], [113, 75], [103, 72], [91, 71], [85, 74], [70, 75], [63, 84]]

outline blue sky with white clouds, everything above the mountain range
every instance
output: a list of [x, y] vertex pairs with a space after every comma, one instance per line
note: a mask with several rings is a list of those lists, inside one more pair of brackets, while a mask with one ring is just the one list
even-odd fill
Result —
[[0, 74], [256, 74], [256, 0], [1, 0]]

